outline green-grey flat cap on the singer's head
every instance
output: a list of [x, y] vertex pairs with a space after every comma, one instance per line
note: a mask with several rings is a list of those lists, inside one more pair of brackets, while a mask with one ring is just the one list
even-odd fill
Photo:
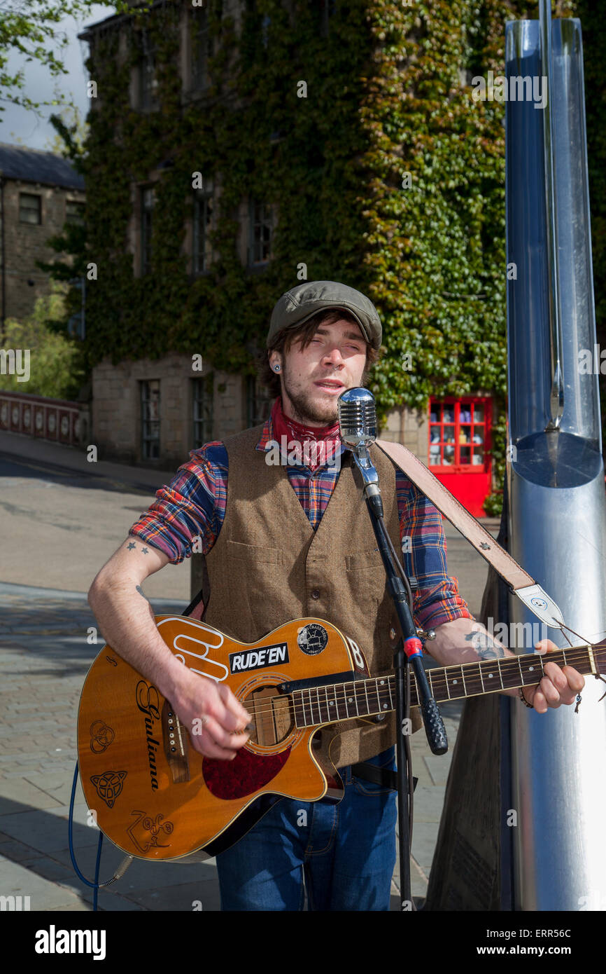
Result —
[[350, 312], [360, 325], [367, 342], [374, 349], [380, 347], [380, 318], [373, 302], [365, 294], [339, 281], [304, 281], [286, 291], [271, 312], [267, 348], [283, 328], [293, 328], [319, 311], [334, 309]]

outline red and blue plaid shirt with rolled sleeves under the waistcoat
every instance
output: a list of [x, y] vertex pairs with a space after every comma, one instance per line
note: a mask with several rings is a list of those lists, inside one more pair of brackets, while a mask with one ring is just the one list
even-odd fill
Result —
[[[272, 448], [272, 432], [269, 418], [257, 450]], [[324, 465], [312, 472], [299, 464], [286, 466], [286, 473], [315, 531], [335, 490], [339, 465]], [[455, 618], [473, 618], [459, 595], [456, 579], [447, 575], [442, 515], [398, 469], [396, 493], [404, 568], [409, 578], [418, 582], [413, 605], [416, 624], [428, 629]], [[160, 487], [156, 501], [133, 524], [129, 534], [160, 548], [173, 565], [193, 553], [196, 539], [195, 549], [205, 554], [221, 531], [227, 494], [225, 445], [221, 441], [206, 443], [192, 450], [189, 462], [178, 468], [169, 484]]]

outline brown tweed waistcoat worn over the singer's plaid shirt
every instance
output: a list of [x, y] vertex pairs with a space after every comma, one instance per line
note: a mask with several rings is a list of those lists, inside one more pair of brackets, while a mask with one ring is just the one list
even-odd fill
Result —
[[[210, 598], [204, 619], [252, 643], [292, 618], [326, 618], [362, 648], [371, 674], [393, 672], [394, 611], [371, 520], [342, 457], [337, 485], [314, 532], [286, 468], [256, 450], [262, 427], [225, 440], [226, 515], [206, 555]], [[396, 550], [400, 528], [396, 468], [374, 450], [385, 525]], [[312, 594], [313, 593], [313, 594]], [[311, 675], [311, 674], [310, 674]], [[412, 728], [419, 724], [412, 711]], [[340, 722], [322, 731], [322, 752], [338, 768], [366, 761], [395, 743], [395, 715]]]

